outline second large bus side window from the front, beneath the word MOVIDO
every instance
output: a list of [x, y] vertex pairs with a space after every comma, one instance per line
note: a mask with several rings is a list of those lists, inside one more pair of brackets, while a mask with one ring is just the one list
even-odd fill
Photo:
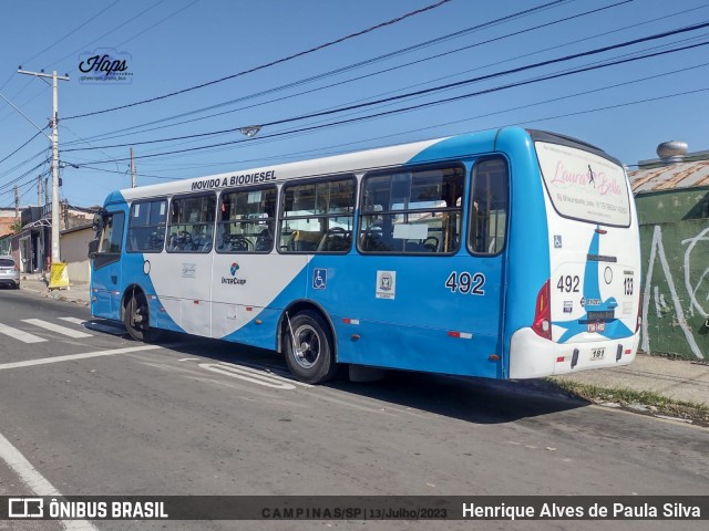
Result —
[[209, 252], [215, 209], [213, 194], [174, 197], [167, 229], [167, 252]]

